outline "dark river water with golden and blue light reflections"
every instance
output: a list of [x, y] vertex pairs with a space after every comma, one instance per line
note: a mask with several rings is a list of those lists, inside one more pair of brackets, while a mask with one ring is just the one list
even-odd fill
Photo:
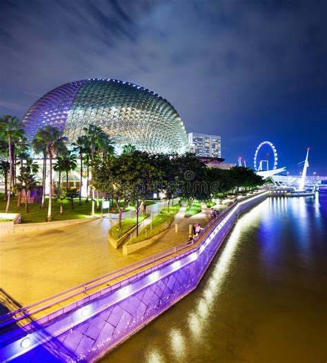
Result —
[[196, 291], [103, 362], [325, 362], [327, 195], [243, 215]]

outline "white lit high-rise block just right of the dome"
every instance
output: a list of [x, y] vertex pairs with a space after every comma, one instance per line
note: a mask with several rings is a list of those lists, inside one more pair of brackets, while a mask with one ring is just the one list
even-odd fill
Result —
[[190, 152], [199, 157], [221, 157], [220, 136], [199, 133], [188, 134]]

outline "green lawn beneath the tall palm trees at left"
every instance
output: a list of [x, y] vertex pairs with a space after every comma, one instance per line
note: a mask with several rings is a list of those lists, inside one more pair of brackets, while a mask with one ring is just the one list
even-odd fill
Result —
[[[74, 199], [74, 209], [70, 207], [70, 202], [67, 200], [63, 201], [63, 215], [59, 215], [59, 202], [54, 202], [52, 200], [52, 220], [54, 221], [64, 221], [66, 219], [79, 219], [90, 217], [92, 203], [85, 203], [82, 199], [82, 204], [79, 206], [79, 199]], [[40, 208], [39, 203], [28, 204], [30, 213], [25, 213], [24, 204], [21, 207], [17, 207], [17, 197], [14, 196], [10, 199], [10, 209], [9, 213], [21, 213], [21, 223], [36, 223], [36, 222], [46, 222], [46, 217], [48, 215], [48, 198], [46, 199], [46, 207]], [[101, 208], [101, 202], [100, 202]], [[0, 211], [4, 212], [6, 210], [6, 201], [3, 200], [3, 193], [0, 194]], [[100, 212], [101, 213], [101, 212]], [[99, 216], [100, 213], [96, 213]]]

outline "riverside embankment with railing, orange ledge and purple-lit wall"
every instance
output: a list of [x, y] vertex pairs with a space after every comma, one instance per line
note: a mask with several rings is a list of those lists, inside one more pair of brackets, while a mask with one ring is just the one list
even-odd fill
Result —
[[0, 317], [6, 362], [92, 362], [194, 290], [240, 213], [237, 200], [199, 237]]

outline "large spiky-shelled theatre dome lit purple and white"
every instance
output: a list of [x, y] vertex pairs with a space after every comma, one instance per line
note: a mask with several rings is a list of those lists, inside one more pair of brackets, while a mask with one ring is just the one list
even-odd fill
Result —
[[28, 139], [46, 124], [62, 130], [70, 142], [83, 134], [83, 127], [94, 124], [118, 149], [132, 144], [148, 153], [188, 151], [186, 130], [175, 108], [155, 92], [117, 79], [83, 79], [54, 88], [23, 117]]

